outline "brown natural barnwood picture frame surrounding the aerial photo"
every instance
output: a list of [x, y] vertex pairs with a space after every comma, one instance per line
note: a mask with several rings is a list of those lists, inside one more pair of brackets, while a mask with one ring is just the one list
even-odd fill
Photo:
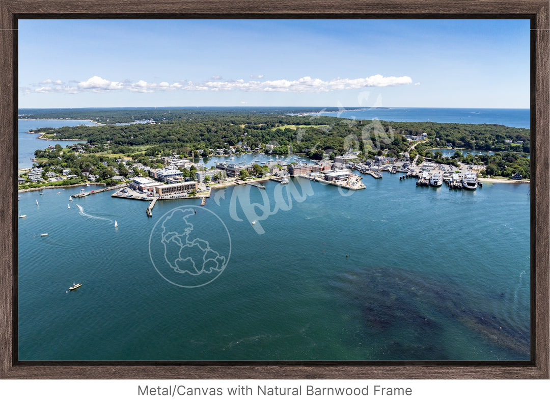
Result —
[[[548, 0], [0, 0], [0, 378], [549, 378]], [[487, 18], [531, 21], [531, 361], [19, 362], [17, 27], [32, 18]], [[11, 165], [10, 165], [11, 164]]]

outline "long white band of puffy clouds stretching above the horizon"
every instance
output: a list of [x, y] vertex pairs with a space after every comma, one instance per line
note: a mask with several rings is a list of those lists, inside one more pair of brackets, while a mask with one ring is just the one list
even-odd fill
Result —
[[[251, 75], [252, 76], [252, 75]], [[260, 79], [263, 75], [259, 75], [256, 78]], [[221, 76], [213, 76], [213, 78], [220, 78]], [[362, 89], [365, 87], [382, 87], [382, 86], [400, 86], [400, 85], [409, 85], [412, 83], [412, 79], [409, 76], [382, 76], [382, 75], [372, 75], [368, 78], [357, 78], [357, 79], [332, 79], [332, 80], [322, 80], [318, 78], [311, 78], [310, 76], [304, 76], [300, 79], [288, 80], [288, 79], [277, 79], [277, 80], [250, 80], [245, 81], [244, 79], [238, 80], [206, 80], [202, 83], [194, 83], [192, 81], [184, 81], [182, 83], [175, 82], [169, 84], [166, 81], [161, 83], [147, 82], [144, 80], [139, 80], [137, 82], [131, 83], [128, 80], [117, 82], [103, 79], [100, 76], [92, 76], [90, 79], [85, 81], [69, 81], [74, 85], [65, 85], [63, 81], [56, 80], [52, 81], [47, 79], [42, 81], [39, 86], [35, 85], [34, 92], [37, 93], [68, 93], [76, 94], [80, 92], [110, 92], [110, 91], [130, 91], [130, 92], [139, 92], [139, 93], [152, 93], [156, 91], [177, 91], [177, 90], [187, 90], [187, 91], [214, 91], [214, 92], [223, 92], [223, 91], [244, 91], [244, 92], [329, 92], [336, 90], [346, 90], [346, 89]], [[420, 84], [420, 83], [416, 83]], [[415, 84], [415, 85], [416, 85]]]

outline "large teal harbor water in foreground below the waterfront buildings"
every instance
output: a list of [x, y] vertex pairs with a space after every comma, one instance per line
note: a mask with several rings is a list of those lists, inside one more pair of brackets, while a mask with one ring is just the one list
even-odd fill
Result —
[[[20, 193], [19, 359], [528, 360], [529, 185], [363, 180], [234, 186], [152, 218], [109, 193]], [[169, 282], [191, 279], [171, 267], [186, 254], [164, 260], [172, 232], [228, 258], [214, 281]]]

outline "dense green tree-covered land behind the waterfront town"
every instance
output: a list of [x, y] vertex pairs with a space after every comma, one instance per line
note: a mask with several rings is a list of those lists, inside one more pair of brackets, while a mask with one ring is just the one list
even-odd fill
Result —
[[[35, 158], [49, 167], [72, 168], [73, 174], [92, 168], [101, 179], [108, 179], [113, 177], [114, 168], [124, 172], [114, 157], [130, 157], [133, 162], [155, 168], [161, 166], [161, 157], [167, 156], [190, 158], [262, 151], [280, 155], [303, 154], [312, 160], [333, 160], [354, 151], [359, 160], [377, 156], [409, 156], [411, 161], [417, 158], [417, 162], [428, 158], [439, 163], [485, 166], [482, 175], [511, 177], [518, 172], [523, 178], [530, 178], [530, 160], [522, 156], [530, 153], [529, 129], [497, 124], [292, 116], [287, 114], [289, 108], [285, 108], [286, 112], [270, 108], [271, 113], [260, 108], [257, 110], [180, 109], [177, 114], [183, 116], [179, 119], [153, 119], [128, 125], [40, 128], [32, 131], [43, 133], [42, 138], [52, 141], [86, 141], [75, 143], [78, 148], [71, 151], [37, 150]], [[145, 114], [150, 109], [125, 111], [124, 114], [135, 113], [133, 116], [136, 117], [136, 112]], [[101, 119], [106, 120], [107, 116]], [[422, 142], [416, 144], [418, 139]], [[416, 144], [414, 148], [413, 144]], [[456, 150], [453, 157], [445, 158], [430, 151], [448, 147], [491, 150], [494, 155], [464, 156], [461, 150]]]

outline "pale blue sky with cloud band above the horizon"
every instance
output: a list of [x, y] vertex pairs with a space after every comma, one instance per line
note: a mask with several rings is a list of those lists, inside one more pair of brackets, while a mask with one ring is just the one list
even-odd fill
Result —
[[19, 20], [19, 107], [529, 108], [528, 20]]

